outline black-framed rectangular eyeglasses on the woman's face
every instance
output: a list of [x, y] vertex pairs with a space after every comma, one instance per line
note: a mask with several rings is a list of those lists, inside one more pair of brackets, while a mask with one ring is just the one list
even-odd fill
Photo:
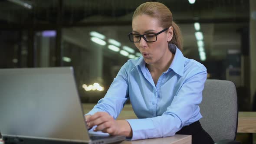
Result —
[[155, 42], [157, 41], [157, 35], [159, 35], [160, 33], [163, 33], [164, 31], [166, 31], [168, 28], [161, 30], [158, 33], [146, 33], [143, 35], [140, 34], [134, 34], [134, 33], [129, 33], [129, 39], [132, 43], [138, 43], [141, 41], [141, 37], [146, 41], [146, 42]]

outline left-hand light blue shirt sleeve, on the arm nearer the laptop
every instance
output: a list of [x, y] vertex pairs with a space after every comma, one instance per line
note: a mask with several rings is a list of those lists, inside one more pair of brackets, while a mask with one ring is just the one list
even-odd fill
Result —
[[100, 99], [98, 104], [85, 115], [93, 115], [98, 111], [105, 111], [116, 119], [128, 98], [128, 62], [126, 62], [119, 70], [105, 97]]

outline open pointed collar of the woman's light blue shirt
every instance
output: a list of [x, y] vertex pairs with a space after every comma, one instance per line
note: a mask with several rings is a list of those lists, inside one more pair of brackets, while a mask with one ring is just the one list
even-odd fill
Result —
[[[171, 49], [171, 52], [174, 53], [174, 59], [171, 62], [169, 69], [172, 69], [178, 75], [183, 76], [185, 59], [182, 52], [174, 44], [169, 44], [169, 48]], [[131, 70], [133, 70], [136, 66], [140, 66], [141, 68], [145, 66], [145, 61], [142, 56], [139, 57], [138, 62]]]

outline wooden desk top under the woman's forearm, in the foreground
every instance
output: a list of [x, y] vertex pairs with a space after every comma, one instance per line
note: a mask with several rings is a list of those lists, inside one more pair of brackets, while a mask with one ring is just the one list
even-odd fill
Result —
[[172, 137], [151, 138], [138, 141], [123, 141], [121, 144], [191, 144], [191, 135], [175, 134]]

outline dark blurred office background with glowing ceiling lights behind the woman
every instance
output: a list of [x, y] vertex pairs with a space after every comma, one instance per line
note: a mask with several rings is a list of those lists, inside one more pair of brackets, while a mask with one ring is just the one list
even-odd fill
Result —
[[0, 0], [0, 69], [73, 66], [82, 102], [96, 103], [140, 56], [127, 34], [146, 1], [170, 8], [184, 56], [203, 63], [208, 79], [233, 81], [240, 111], [252, 111], [256, 0]]

